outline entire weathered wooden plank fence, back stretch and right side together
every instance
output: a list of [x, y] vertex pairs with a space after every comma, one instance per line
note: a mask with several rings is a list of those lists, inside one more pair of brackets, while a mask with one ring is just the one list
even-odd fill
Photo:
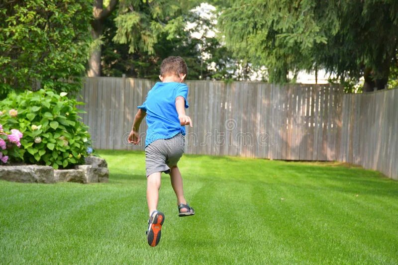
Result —
[[[88, 78], [83, 115], [98, 149], [127, 143], [136, 106], [154, 82]], [[347, 95], [329, 85], [189, 81], [188, 154], [343, 161], [398, 177], [398, 92]], [[395, 102], [395, 104], [394, 104]], [[140, 131], [146, 131], [145, 122]], [[395, 148], [392, 150], [392, 148]]]

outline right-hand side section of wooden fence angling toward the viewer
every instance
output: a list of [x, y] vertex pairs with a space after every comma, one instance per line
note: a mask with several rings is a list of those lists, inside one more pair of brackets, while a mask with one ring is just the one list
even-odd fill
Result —
[[343, 96], [338, 161], [398, 179], [398, 89]]

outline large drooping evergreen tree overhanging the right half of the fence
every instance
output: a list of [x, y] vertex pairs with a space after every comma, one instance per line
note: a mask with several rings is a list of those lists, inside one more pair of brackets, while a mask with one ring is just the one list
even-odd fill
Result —
[[287, 82], [288, 71], [324, 68], [341, 80], [385, 88], [398, 48], [398, 2], [391, 0], [215, 1], [219, 28], [235, 54]]

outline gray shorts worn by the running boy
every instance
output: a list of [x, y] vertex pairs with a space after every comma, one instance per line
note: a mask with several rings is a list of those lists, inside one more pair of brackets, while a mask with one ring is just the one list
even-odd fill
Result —
[[169, 139], [158, 139], [145, 147], [146, 176], [155, 172], [170, 174], [183, 156], [185, 137], [179, 133]]

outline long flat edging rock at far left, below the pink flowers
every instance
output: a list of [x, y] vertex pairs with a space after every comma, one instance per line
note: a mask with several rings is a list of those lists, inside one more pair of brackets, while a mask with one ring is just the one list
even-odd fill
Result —
[[52, 167], [37, 165], [0, 166], [0, 178], [17, 182], [56, 182]]

